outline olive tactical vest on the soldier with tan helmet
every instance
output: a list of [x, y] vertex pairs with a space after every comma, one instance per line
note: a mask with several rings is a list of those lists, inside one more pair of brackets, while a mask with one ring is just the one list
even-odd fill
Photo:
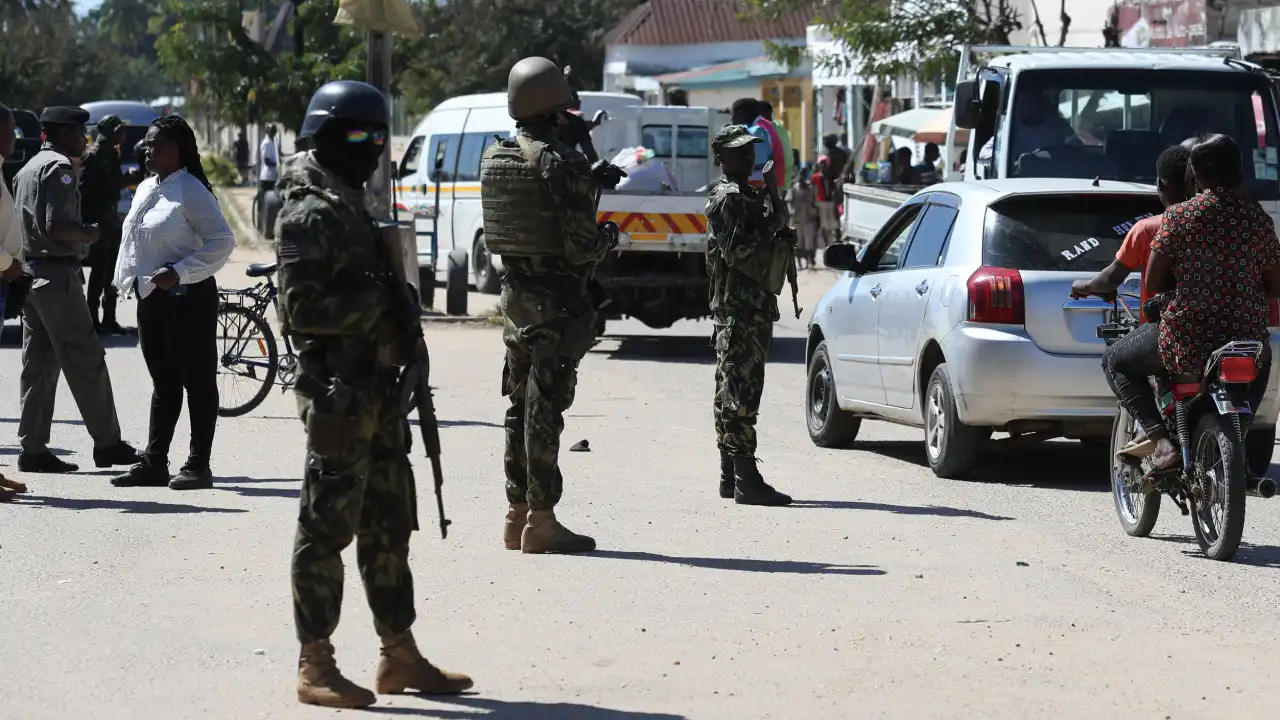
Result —
[[[480, 206], [484, 211], [484, 243], [489, 252], [538, 258], [563, 256], [566, 241], [561, 208], [541, 178], [544, 142], [524, 136], [492, 145], [480, 165]], [[590, 178], [577, 187], [591, 202]], [[572, 214], [579, 222], [571, 231], [586, 243], [598, 234], [594, 218]]]

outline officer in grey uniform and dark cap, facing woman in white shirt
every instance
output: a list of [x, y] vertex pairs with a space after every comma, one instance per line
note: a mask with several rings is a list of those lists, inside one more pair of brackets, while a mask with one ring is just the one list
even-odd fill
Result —
[[81, 108], [45, 108], [45, 143], [14, 177], [22, 215], [23, 251], [31, 273], [49, 281], [27, 299], [22, 316], [22, 419], [18, 466], [27, 473], [72, 473], [78, 468], [49, 451], [58, 378], [67, 375], [84, 427], [93, 436], [93, 465], [133, 465], [138, 454], [120, 439], [106, 354], [84, 300], [81, 263], [101, 237], [81, 219], [76, 165], [84, 152]]

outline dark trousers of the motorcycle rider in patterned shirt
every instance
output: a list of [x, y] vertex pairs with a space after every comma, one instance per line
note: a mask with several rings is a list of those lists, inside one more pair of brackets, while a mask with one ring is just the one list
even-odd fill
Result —
[[[1160, 360], [1160, 324], [1143, 323], [1138, 329], [1116, 341], [1102, 354], [1102, 370], [1107, 375], [1111, 392], [1148, 436], [1165, 427], [1147, 378], [1165, 374]], [[1267, 378], [1271, 374], [1271, 354], [1262, 356], [1258, 377], [1249, 386], [1249, 407], [1256, 413], [1262, 405], [1267, 391]], [[1176, 439], [1174, 441], [1176, 445]]]

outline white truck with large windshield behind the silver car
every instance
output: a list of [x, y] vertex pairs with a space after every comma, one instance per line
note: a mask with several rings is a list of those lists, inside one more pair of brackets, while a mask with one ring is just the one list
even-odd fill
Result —
[[[1277, 217], [1276, 106], [1270, 77], [1238, 47], [966, 46], [945, 151], [952, 161], [963, 154], [964, 164], [946, 179], [1155, 184], [1164, 149], [1221, 132], [1245, 152], [1249, 193]], [[970, 131], [966, 150], [955, 146], [957, 127]], [[916, 190], [846, 183], [846, 240], [869, 241]]]

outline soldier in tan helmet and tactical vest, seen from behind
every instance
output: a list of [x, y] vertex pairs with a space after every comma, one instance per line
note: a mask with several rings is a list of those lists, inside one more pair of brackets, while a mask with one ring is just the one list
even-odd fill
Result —
[[596, 227], [595, 196], [623, 176], [604, 161], [593, 167], [559, 138], [557, 118], [572, 100], [550, 60], [516, 63], [507, 79], [516, 136], [490, 145], [480, 161], [485, 243], [506, 265], [499, 309], [511, 406], [503, 542], [531, 553], [595, 550], [594, 539], [556, 519], [559, 436], [577, 364], [595, 340], [591, 272], [618, 238], [617, 225]]

